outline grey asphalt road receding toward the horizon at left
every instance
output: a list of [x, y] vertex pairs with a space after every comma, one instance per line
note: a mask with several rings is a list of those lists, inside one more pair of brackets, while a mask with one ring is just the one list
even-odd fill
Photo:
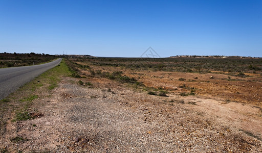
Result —
[[61, 62], [61, 58], [40, 65], [11, 67], [0, 69], [0, 99], [7, 97], [19, 87], [30, 82], [41, 73], [55, 67]]

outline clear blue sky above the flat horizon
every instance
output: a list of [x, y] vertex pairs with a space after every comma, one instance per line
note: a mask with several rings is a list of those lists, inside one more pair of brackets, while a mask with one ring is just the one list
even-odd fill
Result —
[[0, 0], [0, 53], [262, 57], [262, 1]]

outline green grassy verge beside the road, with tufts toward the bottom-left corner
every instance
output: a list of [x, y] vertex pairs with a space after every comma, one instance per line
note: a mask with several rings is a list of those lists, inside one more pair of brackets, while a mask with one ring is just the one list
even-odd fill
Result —
[[[51, 96], [51, 89], [58, 85], [60, 78], [69, 75], [70, 72], [68, 67], [62, 60], [60, 66], [56, 66], [42, 73], [31, 82], [20, 87], [19, 90], [10, 94], [7, 98], [2, 99], [0, 102], [0, 133], [4, 134], [6, 132], [9, 119], [11, 119], [12, 122], [16, 122], [30, 120], [41, 116], [36, 113], [36, 99]], [[53, 87], [50, 88], [50, 86]], [[39, 104], [37, 103], [37, 105]], [[40, 102], [40, 105], [46, 104]], [[36, 124], [33, 124], [32, 126], [36, 126]], [[25, 137], [17, 136], [12, 138], [11, 141], [13, 143], [19, 143], [27, 141], [27, 139]], [[1, 149], [0, 147], [0, 152], [9, 152], [7, 149]]]

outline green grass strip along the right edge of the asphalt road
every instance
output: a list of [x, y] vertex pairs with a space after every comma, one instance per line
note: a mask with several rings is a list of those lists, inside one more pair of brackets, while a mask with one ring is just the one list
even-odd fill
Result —
[[[28, 112], [31, 112], [30, 110], [32, 110], [31, 108], [34, 105], [34, 100], [39, 98], [39, 93], [49, 92], [54, 89], [54, 87], [57, 87], [60, 78], [68, 75], [68, 67], [62, 60], [60, 66], [56, 66], [42, 73], [34, 80], [11, 94], [8, 99], [10, 99], [10, 103], [15, 103], [16, 107], [14, 108], [11, 104], [8, 106], [1, 106], [5, 108], [5, 111], [1, 110], [0, 115], [6, 111], [15, 111], [15, 116], [13, 116], [14, 119], [12, 121], [33, 119], [34, 116], [31, 116], [31, 113]], [[19, 97], [19, 103], [16, 101], [17, 97]], [[1, 122], [5, 121], [3, 120]]]

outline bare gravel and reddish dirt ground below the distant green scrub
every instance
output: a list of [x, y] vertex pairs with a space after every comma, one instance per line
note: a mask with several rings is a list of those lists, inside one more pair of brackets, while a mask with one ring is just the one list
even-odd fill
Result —
[[[122, 71], [144, 86], [91, 77], [89, 69], [79, 68], [85, 78], [63, 78], [51, 95], [42, 92], [34, 100], [41, 116], [9, 119], [1, 151], [262, 152], [261, 75], [89, 65]], [[148, 94], [161, 90], [167, 96]]]

